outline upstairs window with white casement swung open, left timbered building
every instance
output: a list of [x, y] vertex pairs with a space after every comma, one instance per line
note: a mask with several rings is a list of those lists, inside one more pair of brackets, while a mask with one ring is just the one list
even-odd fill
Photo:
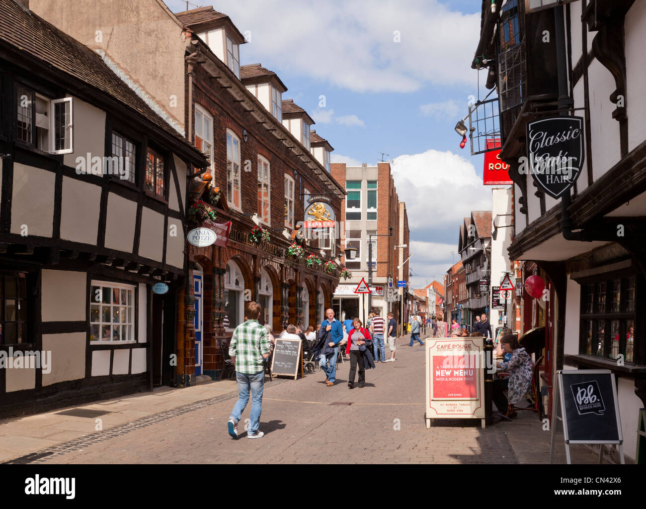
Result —
[[74, 152], [71, 97], [47, 99], [16, 87], [16, 139], [52, 154]]

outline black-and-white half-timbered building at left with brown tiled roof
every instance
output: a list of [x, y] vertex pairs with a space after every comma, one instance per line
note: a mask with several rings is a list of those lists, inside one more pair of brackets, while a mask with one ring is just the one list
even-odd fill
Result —
[[0, 10], [0, 415], [150, 390], [173, 376], [187, 174], [207, 161], [98, 54]]

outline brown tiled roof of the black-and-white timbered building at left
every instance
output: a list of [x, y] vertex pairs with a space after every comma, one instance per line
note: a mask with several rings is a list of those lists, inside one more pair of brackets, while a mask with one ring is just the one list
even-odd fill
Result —
[[143, 115], [167, 135], [190, 146], [185, 138], [152, 111], [134, 91], [118, 78], [101, 57], [41, 17], [17, 5], [14, 0], [0, 0], [0, 46], [8, 44], [17, 52], [26, 52], [45, 65], [54, 67], [98, 91], [109, 94], [133, 113]]

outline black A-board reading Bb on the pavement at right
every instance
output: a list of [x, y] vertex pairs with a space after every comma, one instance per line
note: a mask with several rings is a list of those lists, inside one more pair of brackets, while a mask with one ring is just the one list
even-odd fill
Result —
[[614, 374], [607, 369], [557, 373], [567, 444], [622, 444]]

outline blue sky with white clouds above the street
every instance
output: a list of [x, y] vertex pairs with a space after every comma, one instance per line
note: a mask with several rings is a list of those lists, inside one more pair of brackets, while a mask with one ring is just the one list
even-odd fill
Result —
[[471, 69], [481, 1], [194, 0], [189, 8], [195, 3], [232, 19], [249, 40], [240, 64], [278, 74], [283, 99], [306, 109], [334, 147], [332, 162], [391, 162], [408, 213], [411, 286], [442, 283], [459, 259], [463, 218], [491, 210], [483, 156], [461, 149], [454, 130], [488, 92], [486, 71]]

